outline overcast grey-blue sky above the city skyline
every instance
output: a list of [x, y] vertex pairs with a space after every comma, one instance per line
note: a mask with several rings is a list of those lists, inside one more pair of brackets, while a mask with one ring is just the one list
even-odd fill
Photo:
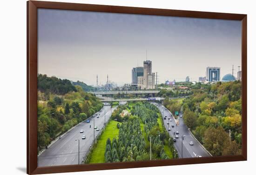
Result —
[[[159, 83], [221, 77], [241, 66], [241, 22], [68, 10], [38, 10], [38, 73], [96, 85], [131, 83], [148, 50]], [[241, 69], [241, 68], [240, 68]]]

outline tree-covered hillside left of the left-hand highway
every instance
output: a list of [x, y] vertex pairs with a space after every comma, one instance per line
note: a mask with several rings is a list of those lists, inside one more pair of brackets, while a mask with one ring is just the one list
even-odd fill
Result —
[[38, 83], [38, 150], [103, 106], [69, 80], [38, 75]]

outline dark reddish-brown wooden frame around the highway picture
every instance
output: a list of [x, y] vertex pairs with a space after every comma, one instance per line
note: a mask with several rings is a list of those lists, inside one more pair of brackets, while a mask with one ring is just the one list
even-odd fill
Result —
[[[92, 12], [115, 12], [189, 18], [229, 19], [242, 22], [242, 155], [182, 158], [143, 162], [118, 162], [53, 167], [37, 166], [37, 10], [38, 8]], [[247, 160], [247, 15], [218, 12], [196, 12], [126, 6], [27, 1], [27, 174], [47, 174], [104, 169], [126, 169], [210, 162]]]

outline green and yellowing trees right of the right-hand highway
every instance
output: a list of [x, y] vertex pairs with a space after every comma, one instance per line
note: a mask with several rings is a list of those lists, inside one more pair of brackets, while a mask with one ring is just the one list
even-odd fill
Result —
[[193, 89], [193, 95], [183, 101], [185, 124], [215, 156], [241, 153], [241, 93], [240, 81], [217, 82], [208, 88]]

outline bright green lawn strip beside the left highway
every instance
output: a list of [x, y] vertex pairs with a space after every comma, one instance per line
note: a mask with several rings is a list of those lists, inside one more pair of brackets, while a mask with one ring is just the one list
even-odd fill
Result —
[[114, 137], [118, 138], [118, 131], [119, 129], [116, 127], [116, 125], [119, 122], [117, 121], [110, 121], [106, 127], [106, 130], [103, 132], [99, 140], [97, 141], [97, 144], [92, 152], [91, 159], [89, 163], [104, 163], [105, 157], [104, 153], [106, 150], [106, 142], [107, 139], [110, 138], [111, 141]]

